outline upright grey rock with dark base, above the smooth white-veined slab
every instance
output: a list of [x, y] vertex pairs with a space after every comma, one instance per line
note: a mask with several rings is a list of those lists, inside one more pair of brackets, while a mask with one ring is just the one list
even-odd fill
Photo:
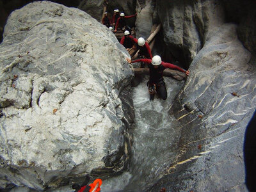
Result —
[[224, 22], [220, 1], [157, 1], [157, 12], [168, 54], [185, 68], [204, 46], [207, 31]]

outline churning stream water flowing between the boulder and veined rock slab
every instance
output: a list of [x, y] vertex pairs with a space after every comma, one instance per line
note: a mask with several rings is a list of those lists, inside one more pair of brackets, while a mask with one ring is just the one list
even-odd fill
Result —
[[173, 120], [168, 115], [173, 99], [184, 83], [165, 77], [167, 100], [149, 100], [147, 79], [132, 90], [135, 110], [135, 129], [132, 131], [131, 166], [129, 172], [104, 180], [102, 191], [143, 191], [152, 186], [172, 162], [175, 134]]

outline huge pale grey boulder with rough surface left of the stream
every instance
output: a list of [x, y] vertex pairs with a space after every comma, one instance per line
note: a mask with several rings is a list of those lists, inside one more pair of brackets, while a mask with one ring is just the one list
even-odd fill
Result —
[[0, 52], [1, 188], [54, 188], [127, 166], [133, 74], [106, 26], [35, 2], [10, 15]]

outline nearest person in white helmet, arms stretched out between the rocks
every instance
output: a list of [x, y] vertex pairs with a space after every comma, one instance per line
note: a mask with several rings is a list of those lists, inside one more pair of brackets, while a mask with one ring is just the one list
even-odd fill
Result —
[[161, 60], [161, 57], [156, 55], [150, 59], [139, 59], [131, 61], [129, 58], [126, 58], [126, 60], [129, 63], [137, 63], [137, 62], [143, 62], [147, 63], [149, 68], [149, 81], [148, 81], [148, 92], [150, 93], [150, 100], [154, 100], [154, 95], [157, 93], [159, 97], [161, 97], [163, 100], [166, 100], [167, 98], [167, 92], [166, 87], [164, 83], [163, 78], [163, 71], [166, 68], [172, 68], [177, 69], [181, 72], [186, 73], [186, 75], [189, 75], [189, 70], [185, 71], [184, 69], [178, 67], [177, 65], [173, 65], [171, 63], [165, 63]]

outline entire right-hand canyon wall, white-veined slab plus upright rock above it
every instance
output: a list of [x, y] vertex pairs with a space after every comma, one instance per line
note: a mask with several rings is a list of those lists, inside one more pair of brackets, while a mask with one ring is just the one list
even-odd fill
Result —
[[243, 143], [256, 108], [255, 57], [239, 41], [238, 26], [225, 22], [220, 1], [157, 3], [164, 40], [192, 62], [170, 108], [180, 122], [177, 157], [150, 191], [246, 191]]

